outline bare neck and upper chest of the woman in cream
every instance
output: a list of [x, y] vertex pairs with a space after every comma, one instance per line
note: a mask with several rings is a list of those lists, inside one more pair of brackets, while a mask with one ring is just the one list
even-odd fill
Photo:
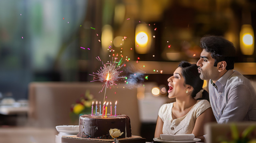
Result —
[[189, 96], [188, 98], [176, 98], [176, 102], [173, 104], [173, 107], [176, 110], [182, 112], [195, 105], [196, 102], [197, 100], [192, 98], [191, 96]]

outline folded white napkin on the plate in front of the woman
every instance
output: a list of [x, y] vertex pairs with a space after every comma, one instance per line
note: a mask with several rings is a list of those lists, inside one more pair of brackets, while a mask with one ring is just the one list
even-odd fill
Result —
[[180, 134], [180, 135], [161, 134], [159, 138], [164, 141], [193, 141], [195, 138], [195, 135], [194, 134]]

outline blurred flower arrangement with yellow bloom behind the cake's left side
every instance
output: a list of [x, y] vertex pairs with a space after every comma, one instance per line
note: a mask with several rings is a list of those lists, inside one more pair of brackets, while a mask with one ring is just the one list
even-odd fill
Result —
[[91, 114], [92, 101], [94, 97], [86, 90], [85, 94], [81, 94], [80, 98], [76, 100], [75, 104], [70, 107], [70, 117], [72, 122], [77, 120], [77, 117], [84, 114]]

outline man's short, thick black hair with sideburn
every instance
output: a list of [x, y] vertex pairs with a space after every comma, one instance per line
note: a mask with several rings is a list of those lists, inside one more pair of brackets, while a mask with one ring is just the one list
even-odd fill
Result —
[[207, 35], [201, 38], [200, 47], [211, 53], [215, 60], [214, 66], [217, 66], [218, 62], [225, 61], [227, 63], [226, 70], [234, 69], [236, 48], [232, 42], [221, 36]]

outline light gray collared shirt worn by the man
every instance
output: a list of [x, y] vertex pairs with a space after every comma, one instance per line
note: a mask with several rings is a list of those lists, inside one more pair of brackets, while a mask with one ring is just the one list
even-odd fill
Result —
[[218, 123], [256, 121], [256, 93], [238, 71], [228, 70], [215, 86], [209, 81], [209, 98]]

